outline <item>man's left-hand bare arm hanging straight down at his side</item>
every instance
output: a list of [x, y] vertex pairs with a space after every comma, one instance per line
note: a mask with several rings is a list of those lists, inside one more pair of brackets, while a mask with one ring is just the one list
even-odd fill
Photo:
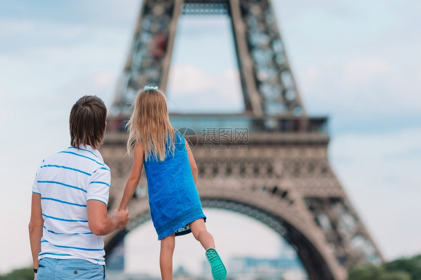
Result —
[[41, 252], [44, 219], [41, 209], [41, 194], [32, 193], [31, 220], [29, 221], [29, 242], [31, 244], [34, 268], [38, 268], [38, 254]]

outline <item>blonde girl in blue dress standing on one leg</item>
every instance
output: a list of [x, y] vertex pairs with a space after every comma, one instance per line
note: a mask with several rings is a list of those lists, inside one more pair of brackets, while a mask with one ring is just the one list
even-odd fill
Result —
[[144, 166], [152, 222], [161, 240], [162, 279], [172, 280], [175, 236], [192, 232], [206, 249], [213, 279], [225, 280], [227, 271], [206, 230], [193, 154], [181, 133], [172, 128], [164, 93], [157, 86], [145, 86], [138, 93], [127, 127], [127, 151], [134, 146], [134, 161], [119, 210], [126, 209]]

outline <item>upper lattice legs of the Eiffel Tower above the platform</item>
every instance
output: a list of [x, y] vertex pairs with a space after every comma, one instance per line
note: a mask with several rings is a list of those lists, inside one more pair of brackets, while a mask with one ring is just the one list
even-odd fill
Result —
[[146, 84], [165, 90], [181, 14], [231, 15], [246, 111], [255, 116], [304, 114], [270, 1], [145, 0], [117, 88], [114, 115], [129, 114], [136, 92]]

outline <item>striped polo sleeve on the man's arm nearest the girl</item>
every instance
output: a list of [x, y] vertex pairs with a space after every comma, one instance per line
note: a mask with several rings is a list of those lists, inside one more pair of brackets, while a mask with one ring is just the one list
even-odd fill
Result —
[[111, 172], [109, 169], [102, 167], [97, 169], [91, 176], [88, 185], [88, 194], [86, 201], [98, 200], [108, 205], [108, 196], [110, 193]]

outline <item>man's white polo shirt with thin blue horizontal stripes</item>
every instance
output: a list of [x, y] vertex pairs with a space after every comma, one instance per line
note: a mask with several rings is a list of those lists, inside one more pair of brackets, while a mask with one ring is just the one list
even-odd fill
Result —
[[88, 226], [87, 201], [108, 203], [111, 174], [99, 151], [69, 147], [41, 163], [32, 192], [41, 194], [44, 218], [38, 259], [83, 258], [104, 262], [104, 241]]

